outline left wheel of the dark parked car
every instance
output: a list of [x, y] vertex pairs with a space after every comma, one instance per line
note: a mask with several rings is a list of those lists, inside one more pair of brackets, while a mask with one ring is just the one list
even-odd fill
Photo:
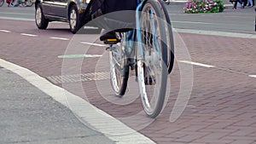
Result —
[[45, 19], [45, 17], [44, 17], [41, 3], [37, 4], [35, 20], [36, 20], [38, 29], [46, 29], [49, 24], [49, 20]]

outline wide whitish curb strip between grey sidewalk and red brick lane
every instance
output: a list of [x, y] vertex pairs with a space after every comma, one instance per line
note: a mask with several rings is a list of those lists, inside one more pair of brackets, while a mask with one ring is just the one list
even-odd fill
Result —
[[102, 132], [103, 135], [108, 136], [108, 138], [115, 141], [116, 144], [155, 144], [155, 142], [151, 141], [148, 137], [140, 134], [136, 130], [132, 130], [118, 119], [94, 107], [88, 101], [84, 101], [81, 97], [73, 95], [66, 89], [51, 84], [37, 73], [2, 59], [0, 59], [0, 66], [26, 79], [26, 81], [51, 96], [55, 101], [69, 108], [84, 125], [90, 128], [93, 127], [93, 129]]

